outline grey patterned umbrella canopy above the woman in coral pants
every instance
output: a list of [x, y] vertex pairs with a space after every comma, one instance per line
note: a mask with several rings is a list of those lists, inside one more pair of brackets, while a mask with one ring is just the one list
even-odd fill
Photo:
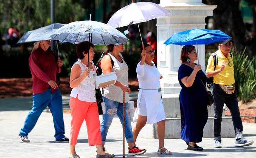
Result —
[[[90, 37], [90, 40], [89, 40]], [[90, 41], [93, 44], [109, 45], [127, 43], [126, 36], [116, 28], [102, 22], [86, 20], [71, 22], [54, 32], [52, 40], [79, 44]]]

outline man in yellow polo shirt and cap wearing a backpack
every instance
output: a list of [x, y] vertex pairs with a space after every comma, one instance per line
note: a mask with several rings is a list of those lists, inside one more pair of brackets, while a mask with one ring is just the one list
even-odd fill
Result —
[[254, 141], [243, 138], [243, 124], [240, 118], [238, 101], [234, 87], [234, 65], [232, 54], [230, 53], [232, 40], [227, 39], [219, 42], [217, 64], [214, 68], [214, 59], [211, 55], [208, 59], [206, 76], [213, 77], [213, 98], [214, 98], [214, 147], [221, 147], [221, 116], [224, 103], [229, 108], [236, 134], [235, 147], [252, 145]]

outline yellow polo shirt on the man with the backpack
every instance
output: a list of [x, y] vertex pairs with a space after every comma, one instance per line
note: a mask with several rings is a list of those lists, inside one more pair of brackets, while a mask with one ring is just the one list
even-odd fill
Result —
[[[228, 53], [227, 58], [223, 55], [223, 53], [220, 51], [220, 49], [218, 51], [215, 52], [218, 56], [218, 65], [216, 65], [215, 70], [218, 70], [221, 68], [221, 64], [226, 61], [227, 66], [224, 68], [223, 71], [221, 71], [220, 73], [218, 73], [217, 75], [215, 75], [213, 77], [213, 82], [215, 84], [218, 85], [232, 85], [233, 83], [235, 83], [234, 80], [234, 64], [233, 64], [233, 60], [230, 56], [230, 54]], [[230, 60], [231, 66], [228, 65], [228, 60]], [[211, 55], [208, 59], [208, 65], [207, 65], [207, 69], [206, 69], [206, 73], [210, 72], [210, 71], [214, 71], [214, 61], [213, 61], [213, 56]]]

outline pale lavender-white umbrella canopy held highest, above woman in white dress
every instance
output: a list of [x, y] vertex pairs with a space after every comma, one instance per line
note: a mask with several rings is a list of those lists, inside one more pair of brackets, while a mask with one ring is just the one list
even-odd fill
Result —
[[132, 3], [119, 9], [112, 15], [108, 25], [113, 27], [128, 26], [130, 22], [137, 24], [170, 14], [168, 10], [152, 2]]

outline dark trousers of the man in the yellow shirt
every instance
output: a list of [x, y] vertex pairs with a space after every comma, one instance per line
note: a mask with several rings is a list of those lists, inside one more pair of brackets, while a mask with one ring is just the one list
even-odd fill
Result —
[[224, 103], [230, 110], [236, 139], [243, 138], [243, 124], [238, 108], [238, 101], [236, 91], [232, 94], [225, 93], [220, 85], [213, 84], [213, 98], [214, 98], [214, 138], [220, 139], [221, 116], [223, 112]]

